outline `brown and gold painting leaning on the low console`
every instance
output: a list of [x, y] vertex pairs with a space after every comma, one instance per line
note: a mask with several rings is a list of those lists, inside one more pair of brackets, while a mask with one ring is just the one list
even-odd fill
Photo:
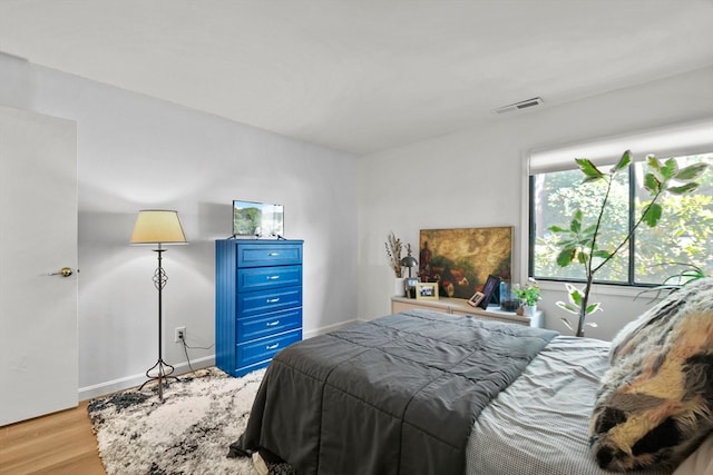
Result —
[[470, 299], [489, 276], [510, 280], [511, 263], [512, 226], [420, 231], [419, 277], [438, 283], [441, 297]]

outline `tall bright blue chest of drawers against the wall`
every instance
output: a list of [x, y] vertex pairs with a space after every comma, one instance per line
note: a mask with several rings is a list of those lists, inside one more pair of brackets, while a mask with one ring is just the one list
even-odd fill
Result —
[[302, 240], [215, 241], [215, 364], [243, 376], [302, 339]]

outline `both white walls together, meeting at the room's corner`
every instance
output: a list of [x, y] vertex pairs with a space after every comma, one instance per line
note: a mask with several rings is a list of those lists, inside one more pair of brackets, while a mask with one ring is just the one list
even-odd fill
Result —
[[[528, 150], [713, 115], [709, 68], [355, 159], [2, 55], [0, 83], [0, 103], [78, 123], [80, 397], [140, 383], [157, 356], [155, 256], [128, 246], [139, 209], [177, 209], [191, 239], [165, 259], [164, 355], [183, 368], [175, 326], [194, 346], [214, 342], [213, 240], [229, 235], [234, 198], [284, 204], [287, 237], [305, 239], [309, 336], [356, 308], [389, 313], [389, 231], [418, 246], [421, 228], [515, 226], [524, 278]], [[558, 288], [541, 307], [563, 329]], [[631, 293], [600, 296], [588, 336], [609, 338], [644, 307]], [[213, 349], [189, 354], [207, 364]]]

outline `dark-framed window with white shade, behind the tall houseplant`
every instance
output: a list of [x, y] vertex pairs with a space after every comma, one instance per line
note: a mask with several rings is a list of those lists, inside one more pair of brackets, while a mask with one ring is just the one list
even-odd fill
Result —
[[[675, 155], [680, 168], [694, 162], [710, 164], [706, 172], [696, 181], [701, 185], [693, 195], [665, 195], [660, 199], [664, 212], [655, 228], [641, 225], [634, 238], [619, 250], [617, 256], [596, 275], [596, 281], [623, 285], [658, 285], [666, 278], [691, 265], [702, 269], [706, 275], [713, 273], [713, 122], [704, 123], [701, 129], [703, 144], [691, 147], [685, 140], [660, 147], [661, 150], [675, 151], [693, 149], [695, 152]], [[656, 137], [665, 135], [657, 131]], [[681, 137], [681, 135], [676, 135]], [[636, 142], [636, 136], [622, 138]], [[602, 148], [606, 141], [597, 142]], [[585, 270], [582, 265], [570, 264], [559, 267], [556, 256], [559, 253], [557, 236], [548, 232], [553, 225], [568, 227], [575, 210], [584, 211], [584, 226], [593, 225], [602, 202], [603, 190], [599, 185], [582, 185], [583, 175], [574, 161], [574, 157], [590, 158], [597, 167], [606, 170], [619, 158], [621, 154], [634, 147], [617, 146], [617, 155], [611, 151], [593, 157], [582, 150], [534, 154], [530, 158], [530, 236], [529, 236], [529, 275], [538, 279], [584, 280]], [[608, 147], [611, 149], [613, 147]], [[596, 147], [592, 147], [596, 150]], [[703, 151], [701, 151], [703, 149]], [[572, 155], [568, 155], [572, 154]], [[608, 157], [607, 157], [608, 155]], [[671, 155], [654, 151], [657, 158]], [[554, 159], [553, 157], [559, 157]], [[568, 158], [565, 158], [568, 157]], [[605, 215], [605, 227], [600, 231], [599, 246], [613, 250], [629, 232], [638, 220], [641, 210], [647, 204], [648, 194], [643, 189], [642, 180], [646, 170], [645, 156], [636, 156], [628, 174], [617, 175], [609, 195], [609, 205]], [[545, 164], [545, 165], [543, 165]], [[611, 165], [606, 165], [611, 164]], [[596, 265], [596, 261], [595, 261]]]

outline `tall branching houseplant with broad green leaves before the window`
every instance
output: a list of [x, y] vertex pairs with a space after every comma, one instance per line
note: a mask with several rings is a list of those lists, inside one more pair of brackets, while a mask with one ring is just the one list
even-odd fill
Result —
[[[599, 303], [589, 303], [589, 294], [592, 291], [592, 283], [595, 274], [602, 269], [616, 254], [624, 248], [634, 235], [634, 231], [642, 222], [649, 227], [655, 227], [661, 219], [663, 207], [660, 199], [665, 194], [685, 195], [693, 192], [699, 184], [694, 180], [705, 171], [707, 164], [694, 164], [685, 168], [678, 169], [675, 159], [670, 158], [660, 161], [654, 156], [647, 156], [646, 161], [648, 169], [644, 176], [644, 188], [651, 197], [651, 201], [646, 205], [634, 226], [629, 228], [629, 232], [621, 240], [614, 249], [599, 248], [599, 231], [602, 230], [604, 211], [609, 204], [609, 194], [612, 191], [612, 182], [614, 177], [626, 170], [632, 162], [632, 152], [626, 150], [619, 161], [608, 171], [600, 171], [590, 160], [586, 158], [575, 159], [579, 170], [584, 174], [584, 184], [604, 181], [605, 194], [595, 216], [593, 224], [585, 224], [585, 217], [582, 209], [574, 212], [568, 228], [559, 226], [550, 226], [548, 230], [559, 236], [559, 254], [557, 264], [566, 267], [573, 263], [584, 266], [586, 283], [583, 288], [578, 288], [572, 284], [566, 284], [568, 301], [557, 301], [557, 306], [566, 311], [577, 316], [576, 335], [584, 336], [586, 317], [600, 309]], [[569, 320], [563, 318], [565, 325], [574, 330]]]

